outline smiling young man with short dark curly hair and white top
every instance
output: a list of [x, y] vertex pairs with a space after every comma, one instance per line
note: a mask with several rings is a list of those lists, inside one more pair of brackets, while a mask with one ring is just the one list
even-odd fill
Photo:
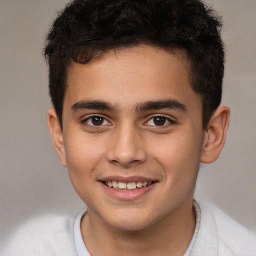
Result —
[[193, 193], [225, 141], [221, 22], [198, 0], [74, 0], [45, 57], [55, 150], [87, 209], [32, 220], [6, 255], [256, 255]]

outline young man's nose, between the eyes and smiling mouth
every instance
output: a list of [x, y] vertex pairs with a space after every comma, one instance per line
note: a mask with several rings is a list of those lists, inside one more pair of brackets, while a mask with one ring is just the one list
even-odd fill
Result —
[[122, 167], [135, 166], [146, 159], [145, 146], [133, 124], [119, 125], [111, 134], [107, 160]]

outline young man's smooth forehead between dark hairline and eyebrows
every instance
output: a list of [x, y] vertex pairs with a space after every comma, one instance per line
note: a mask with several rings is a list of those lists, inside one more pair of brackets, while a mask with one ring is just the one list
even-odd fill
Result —
[[85, 98], [107, 100], [124, 109], [169, 97], [200, 104], [200, 96], [190, 84], [184, 55], [181, 51], [171, 54], [159, 47], [140, 45], [109, 50], [88, 64], [71, 62], [64, 106]]

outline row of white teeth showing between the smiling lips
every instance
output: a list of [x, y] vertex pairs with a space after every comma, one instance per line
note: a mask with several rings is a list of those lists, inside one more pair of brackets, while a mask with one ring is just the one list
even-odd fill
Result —
[[141, 187], [150, 186], [156, 181], [131, 181], [131, 182], [121, 182], [121, 181], [102, 181], [102, 183], [108, 187], [114, 188], [116, 190], [137, 190]]

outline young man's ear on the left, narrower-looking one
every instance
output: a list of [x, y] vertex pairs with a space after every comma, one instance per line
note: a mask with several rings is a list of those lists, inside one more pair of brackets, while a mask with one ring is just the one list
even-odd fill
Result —
[[66, 154], [65, 146], [63, 143], [63, 132], [58, 121], [57, 113], [53, 107], [49, 108], [47, 111], [47, 124], [55, 151], [61, 161], [61, 164], [66, 167]]

